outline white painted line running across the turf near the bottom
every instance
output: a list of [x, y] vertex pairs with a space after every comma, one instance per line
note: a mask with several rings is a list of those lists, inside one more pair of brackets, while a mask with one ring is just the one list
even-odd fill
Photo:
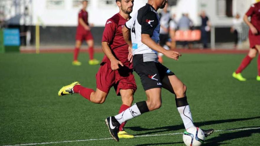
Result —
[[[243, 129], [229, 129], [229, 130], [215, 130], [214, 132], [240, 131], [240, 130], [252, 130], [252, 129], [260, 129], [260, 127], [243, 128]], [[134, 136], [134, 137], [150, 137], [150, 136], [164, 136], [164, 135], [176, 135], [176, 134], [183, 134], [183, 133], [179, 132], [179, 133], [168, 133], [168, 134], [147, 134], [147, 135], [137, 135], [137, 136]], [[87, 140], [66, 140], [66, 141], [60, 141], [60, 142], [41, 142], [41, 143], [27, 143], [27, 144], [3, 145], [3, 146], [46, 145], [46, 144], [55, 144], [55, 143], [86, 142], [86, 141], [94, 141], [94, 140], [111, 140], [111, 139], [112, 138], [87, 139]]]

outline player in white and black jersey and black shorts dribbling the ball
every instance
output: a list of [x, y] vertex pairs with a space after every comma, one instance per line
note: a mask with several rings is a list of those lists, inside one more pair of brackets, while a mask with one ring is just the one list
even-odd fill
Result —
[[[195, 127], [191, 110], [187, 102], [186, 86], [168, 68], [158, 62], [157, 52], [178, 60], [180, 53], [165, 50], [158, 45], [160, 22], [157, 10], [163, 8], [168, 0], [148, 0], [133, 17], [126, 22], [122, 29], [127, 44], [133, 48], [134, 70], [141, 78], [143, 88], [147, 95], [146, 101], [137, 102], [120, 114], [105, 119], [111, 136], [119, 141], [117, 133], [121, 123], [137, 117], [145, 112], [161, 107], [161, 88], [175, 94], [176, 106], [183, 120], [185, 129]], [[130, 36], [131, 33], [131, 36]], [[131, 55], [129, 56], [131, 60]], [[203, 130], [207, 137], [214, 130]]]

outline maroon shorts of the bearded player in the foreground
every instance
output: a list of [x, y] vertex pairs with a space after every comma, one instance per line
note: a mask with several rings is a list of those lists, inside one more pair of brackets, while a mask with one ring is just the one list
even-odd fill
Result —
[[104, 63], [100, 66], [96, 74], [97, 88], [108, 93], [113, 86], [118, 96], [120, 96], [120, 89], [133, 89], [135, 92], [137, 86], [132, 72], [133, 71], [128, 68], [120, 68], [113, 71], [110, 66], [108, 66], [108, 63]]

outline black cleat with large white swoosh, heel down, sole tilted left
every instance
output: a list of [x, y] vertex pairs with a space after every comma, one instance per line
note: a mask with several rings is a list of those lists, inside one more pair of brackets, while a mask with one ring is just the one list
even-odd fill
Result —
[[111, 137], [118, 142], [119, 138], [118, 138], [117, 133], [119, 131], [120, 124], [118, 123], [118, 121], [116, 120], [116, 118], [114, 116], [106, 118], [105, 122], [106, 122], [106, 125], [108, 126]]

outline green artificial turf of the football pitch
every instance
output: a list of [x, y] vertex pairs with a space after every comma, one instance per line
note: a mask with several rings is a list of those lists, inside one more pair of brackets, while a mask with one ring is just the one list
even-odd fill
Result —
[[[179, 61], [164, 57], [170, 68], [186, 84], [188, 102], [197, 126], [217, 131], [206, 138], [208, 146], [259, 145], [260, 82], [256, 81], [256, 59], [244, 70], [248, 80], [232, 78], [245, 55], [183, 54]], [[96, 54], [101, 60], [102, 53]], [[105, 118], [118, 113], [121, 97], [111, 91], [104, 104], [93, 104], [78, 94], [59, 97], [58, 90], [73, 81], [96, 88], [99, 66], [87, 63], [81, 53], [82, 66], [71, 65], [72, 54], [0, 54], [0, 146], [41, 142], [45, 145], [176, 145], [184, 146], [182, 134], [109, 138]], [[137, 92], [134, 103], [146, 100], [140, 78], [134, 74]], [[176, 109], [174, 95], [163, 89], [163, 104], [127, 122], [130, 134], [182, 133], [184, 126]], [[247, 130], [245, 128], [248, 128]], [[243, 129], [229, 131], [228, 129]], [[74, 142], [64, 142], [74, 141]]]

